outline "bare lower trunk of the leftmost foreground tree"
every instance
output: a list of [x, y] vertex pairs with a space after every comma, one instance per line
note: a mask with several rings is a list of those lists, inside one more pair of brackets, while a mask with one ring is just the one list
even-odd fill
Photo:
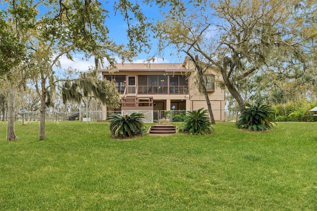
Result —
[[[7, 126], [7, 141], [17, 140], [18, 137], [15, 135], [14, 122], [15, 122], [15, 97], [16, 97], [16, 87], [11, 82], [9, 82], [8, 91], [8, 126]], [[4, 116], [4, 115], [3, 115]]]

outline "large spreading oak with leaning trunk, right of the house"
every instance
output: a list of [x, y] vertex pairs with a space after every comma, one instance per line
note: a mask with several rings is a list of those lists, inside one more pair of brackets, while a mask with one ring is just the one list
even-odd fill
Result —
[[296, 71], [303, 73], [312, 62], [316, 24], [303, 15], [313, 16], [310, 10], [298, 11], [301, 3], [305, 8], [316, 6], [316, 1], [297, 0], [203, 0], [186, 9], [181, 4], [158, 24], [159, 47], [173, 44], [217, 67], [244, 109], [238, 87], [249, 78], [260, 72], [297, 77]]

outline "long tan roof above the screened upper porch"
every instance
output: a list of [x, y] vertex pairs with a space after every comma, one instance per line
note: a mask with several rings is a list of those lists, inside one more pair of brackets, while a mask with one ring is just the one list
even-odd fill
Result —
[[183, 63], [120, 63], [116, 64], [115, 68], [109, 66], [99, 72], [108, 71], [164, 71], [164, 72], [185, 72], [188, 71]]

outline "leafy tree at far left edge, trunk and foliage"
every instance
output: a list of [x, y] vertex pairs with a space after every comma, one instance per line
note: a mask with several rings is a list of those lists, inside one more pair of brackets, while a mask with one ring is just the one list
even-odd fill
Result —
[[[0, 12], [0, 79], [7, 90], [7, 140], [17, 140], [14, 131], [16, 89], [23, 67], [27, 63], [27, 49], [24, 28], [27, 28], [32, 15], [31, 10], [16, 10], [8, 16], [8, 11]], [[21, 22], [15, 17], [21, 16]], [[24, 27], [21, 27], [21, 24]], [[2, 85], [2, 88], [3, 88]]]

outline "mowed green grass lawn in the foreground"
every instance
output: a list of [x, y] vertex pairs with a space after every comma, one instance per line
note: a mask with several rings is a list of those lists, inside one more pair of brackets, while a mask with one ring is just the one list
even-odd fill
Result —
[[[108, 123], [0, 122], [0, 210], [317, 210], [317, 123], [110, 139]], [[148, 125], [149, 126], [149, 125]]]

